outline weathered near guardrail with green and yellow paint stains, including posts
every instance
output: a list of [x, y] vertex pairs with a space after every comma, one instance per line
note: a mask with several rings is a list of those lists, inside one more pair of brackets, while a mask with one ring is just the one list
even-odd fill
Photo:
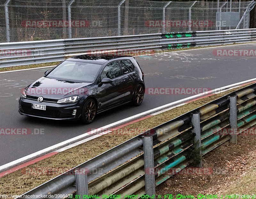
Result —
[[23, 196], [152, 195], [190, 163], [201, 167], [202, 155], [215, 147], [237, 143], [237, 134], [255, 124], [256, 83], [150, 129]]

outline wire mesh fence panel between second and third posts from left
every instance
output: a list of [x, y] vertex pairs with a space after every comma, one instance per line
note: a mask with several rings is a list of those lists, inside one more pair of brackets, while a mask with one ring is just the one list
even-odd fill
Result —
[[81, 26], [71, 28], [72, 37], [116, 36], [118, 4], [119, 1], [75, 1], [71, 6], [71, 21], [80, 21]]

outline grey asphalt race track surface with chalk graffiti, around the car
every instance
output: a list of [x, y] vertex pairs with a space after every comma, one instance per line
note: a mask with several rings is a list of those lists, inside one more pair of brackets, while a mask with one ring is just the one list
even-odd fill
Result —
[[[196, 49], [136, 57], [147, 88], [219, 88], [256, 77], [255, 56], [215, 56], [216, 49], [256, 50], [256, 44]], [[0, 128], [43, 129], [41, 135], [0, 135], [0, 165], [126, 117], [191, 95], [147, 94], [140, 107], [125, 105], [97, 115], [90, 125], [55, 121], [18, 113], [20, 89], [44, 75], [49, 68], [0, 73]], [[192, 94], [193, 95], [193, 94]], [[104, 143], [101, 143], [104, 144]]]

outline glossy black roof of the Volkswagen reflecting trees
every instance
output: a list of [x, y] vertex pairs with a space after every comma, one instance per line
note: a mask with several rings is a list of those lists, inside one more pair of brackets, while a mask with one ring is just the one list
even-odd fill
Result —
[[103, 55], [77, 55], [75, 57], [71, 57], [67, 60], [70, 61], [80, 61], [80, 62], [89, 62], [89, 63], [95, 63], [95, 64], [104, 64], [105, 62], [109, 61], [109, 60], [114, 60], [114, 59], [118, 59], [118, 58], [133, 58], [132, 56], [103, 56]]

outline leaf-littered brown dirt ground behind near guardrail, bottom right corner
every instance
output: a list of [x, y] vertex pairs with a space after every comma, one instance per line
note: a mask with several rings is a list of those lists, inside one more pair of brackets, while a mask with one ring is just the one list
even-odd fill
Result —
[[156, 187], [156, 194], [256, 194], [255, 147], [255, 134], [238, 135], [237, 145], [227, 141], [203, 156], [203, 168], [212, 169], [212, 174], [176, 174]]

